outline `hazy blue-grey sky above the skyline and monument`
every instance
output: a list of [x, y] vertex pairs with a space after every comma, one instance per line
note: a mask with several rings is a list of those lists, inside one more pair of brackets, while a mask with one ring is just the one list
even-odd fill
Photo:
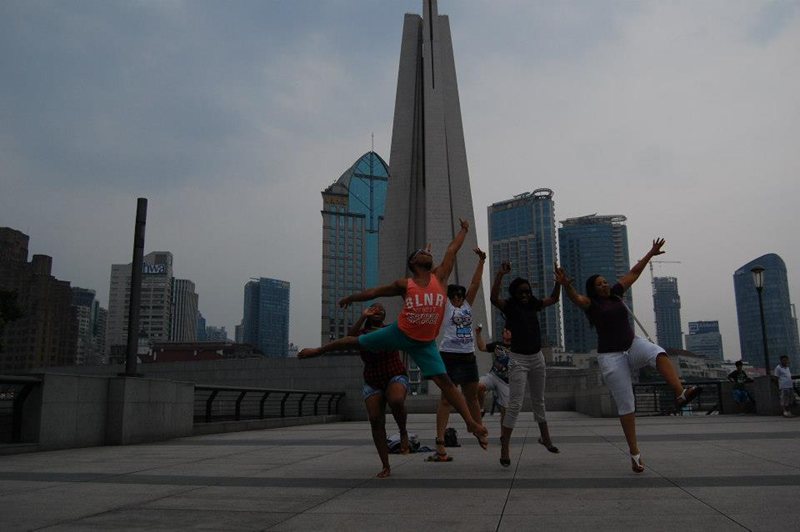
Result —
[[[421, 0], [0, 2], [0, 226], [108, 303], [171, 251], [230, 335], [250, 277], [291, 282], [290, 339], [320, 328], [322, 199], [389, 159], [403, 14]], [[738, 358], [733, 272], [774, 252], [800, 298], [800, 2], [440, 0], [450, 16], [475, 226], [514, 194], [557, 219], [628, 218], [631, 260], [667, 239], [682, 320]], [[391, 163], [391, 161], [388, 161]], [[488, 274], [487, 274], [488, 283]], [[652, 330], [649, 274], [637, 314]]]

